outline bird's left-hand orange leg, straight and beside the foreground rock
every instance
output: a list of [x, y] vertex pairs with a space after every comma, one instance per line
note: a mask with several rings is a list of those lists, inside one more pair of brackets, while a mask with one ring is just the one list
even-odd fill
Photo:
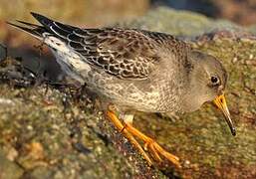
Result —
[[126, 125], [124, 126], [123, 123], [120, 121], [120, 119], [117, 117], [115, 112], [111, 109], [107, 111], [107, 115], [110, 118], [110, 120], [114, 123], [114, 125], [122, 132], [124, 135], [128, 138], [130, 143], [137, 148], [137, 150], [141, 153], [141, 155], [144, 157], [144, 159], [147, 161], [148, 165], [151, 166], [152, 162], [150, 158], [147, 156], [147, 154], [144, 152], [143, 148], [140, 146], [140, 144], [136, 141], [136, 139], [128, 132], [126, 129]]

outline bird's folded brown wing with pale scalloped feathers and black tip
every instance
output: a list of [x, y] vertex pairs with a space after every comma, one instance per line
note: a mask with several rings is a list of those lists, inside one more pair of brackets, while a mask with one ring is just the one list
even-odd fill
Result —
[[47, 31], [64, 40], [82, 60], [121, 79], [143, 80], [157, 66], [157, 44], [136, 30], [80, 29], [32, 15]]

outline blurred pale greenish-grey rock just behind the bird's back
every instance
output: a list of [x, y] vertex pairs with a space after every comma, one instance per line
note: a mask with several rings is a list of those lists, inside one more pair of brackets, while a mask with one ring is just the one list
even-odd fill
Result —
[[198, 13], [177, 11], [167, 7], [156, 8], [141, 18], [120, 23], [119, 26], [165, 32], [174, 36], [188, 36], [190, 38], [213, 30], [246, 31], [226, 20], [213, 20]]

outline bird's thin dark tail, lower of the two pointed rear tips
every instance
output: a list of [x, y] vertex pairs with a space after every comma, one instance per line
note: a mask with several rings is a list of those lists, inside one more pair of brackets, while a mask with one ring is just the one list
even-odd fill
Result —
[[35, 38], [37, 38], [39, 40], [42, 40], [43, 39], [43, 33], [47, 32], [47, 29], [43, 26], [27, 23], [27, 22], [24, 22], [24, 21], [17, 21], [17, 22], [22, 24], [22, 25], [13, 24], [11, 22], [6, 22], [6, 23], [11, 25], [11, 26], [14, 26], [18, 29], [21, 29], [21, 30], [25, 31], [26, 33], [31, 34], [32, 36], [34, 36]]

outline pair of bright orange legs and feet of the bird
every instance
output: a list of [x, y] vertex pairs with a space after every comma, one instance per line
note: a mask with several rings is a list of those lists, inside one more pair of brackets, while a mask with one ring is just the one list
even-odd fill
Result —
[[150, 158], [147, 156], [145, 151], [142, 149], [142, 147], [139, 145], [139, 143], [135, 140], [133, 136], [136, 136], [137, 138], [141, 139], [144, 142], [144, 149], [149, 149], [151, 152], [153, 158], [157, 161], [162, 161], [160, 156], [165, 157], [170, 162], [175, 164], [177, 167], [180, 167], [180, 164], [178, 162], [178, 158], [171, 153], [164, 150], [159, 144], [157, 144], [152, 138], [144, 135], [140, 131], [138, 131], [136, 128], [134, 128], [131, 124], [126, 123], [123, 125], [123, 123], [120, 121], [120, 119], [117, 117], [114, 111], [109, 109], [107, 111], [107, 115], [111, 119], [111, 121], [115, 124], [115, 126], [125, 134], [125, 136], [128, 138], [128, 140], [133, 144], [134, 147], [138, 149], [138, 151], [142, 154], [144, 159], [147, 161], [149, 165], [152, 164]]

